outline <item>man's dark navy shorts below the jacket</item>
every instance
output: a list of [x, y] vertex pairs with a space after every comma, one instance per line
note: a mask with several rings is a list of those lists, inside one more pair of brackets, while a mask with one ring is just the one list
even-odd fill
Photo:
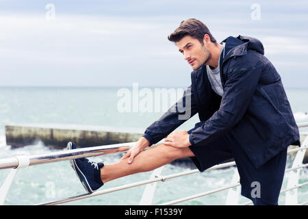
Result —
[[[188, 133], [192, 130], [194, 129]], [[240, 175], [242, 196], [251, 199], [254, 205], [278, 205], [285, 174], [287, 149], [283, 149], [259, 168], [255, 168], [232, 131], [209, 144], [195, 144], [190, 146], [190, 149], [195, 155], [190, 158], [201, 172], [234, 159]]]

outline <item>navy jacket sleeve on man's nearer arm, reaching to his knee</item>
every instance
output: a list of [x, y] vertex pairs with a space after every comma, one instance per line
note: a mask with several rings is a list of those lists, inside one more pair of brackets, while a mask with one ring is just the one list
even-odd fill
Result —
[[[240, 58], [240, 57], [239, 57]], [[246, 59], [244, 59], [246, 60]], [[235, 62], [231, 60], [229, 66], [233, 67], [228, 73], [228, 79], [224, 85], [224, 94], [220, 108], [211, 118], [203, 121], [202, 125], [190, 133], [190, 143], [206, 144], [218, 138], [225, 131], [231, 129], [244, 116], [248, 105], [253, 99], [261, 74], [261, 65]]]

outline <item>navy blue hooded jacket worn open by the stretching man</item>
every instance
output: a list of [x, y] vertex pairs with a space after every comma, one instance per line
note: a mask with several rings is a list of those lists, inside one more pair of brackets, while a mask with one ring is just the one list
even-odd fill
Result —
[[211, 89], [206, 66], [201, 66], [192, 72], [192, 85], [183, 97], [146, 128], [144, 137], [155, 144], [183, 124], [179, 115], [185, 112], [179, 106], [185, 105], [189, 95], [186, 110], [190, 117], [198, 113], [201, 120], [190, 133], [190, 143], [203, 146], [233, 131], [259, 167], [290, 144], [300, 146], [298, 127], [281, 77], [264, 56], [263, 44], [246, 36], [230, 36], [222, 42], [226, 43], [220, 57], [223, 96]]

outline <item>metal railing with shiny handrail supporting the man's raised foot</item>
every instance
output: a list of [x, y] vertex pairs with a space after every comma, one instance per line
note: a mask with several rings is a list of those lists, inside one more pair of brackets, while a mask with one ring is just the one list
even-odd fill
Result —
[[[308, 127], [308, 123], [299, 124], [298, 127], [299, 128], [300, 127]], [[163, 141], [158, 142], [157, 144], [155, 144], [153, 146], [157, 146], [158, 144], [161, 144], [162, 142]], [[13, 170], [11, 170], [7, 179], [5, 179], [3, 185], [0, 188], [0, 205], [3, 205], [3, 203], [5, 201], [5, 197], [8, 194], [8, 190], [10, 189], [10, 185], [12, 184], [12, 181], [14, 180], [14, 177], [16, 175], [17, 170], [20, 169], [20, 168], [25, 168], [27, 166], [36, 165], [36, 164], [46, 164], [46, 163], [51, 163], [51, 162], [60, 162], [60, 161], [69, 160], [69, 159], [77, 159], [77, 158], [81, 158], [81, 157], [94, 157], [94, 156], [100, 156], [100, 155], [107, 155], [107, 154], [111, 154], [111, 153], [125, 152], [125, 151], [129, 150], [131, 148], [131, 146], [133, 146], [133, 144], [136, 144], [136, 142], [128, 142], [128, 143], [123, 143], [123, 144], [110, 144], [110, 145], [105, 145], [105, 146], [94, 146], [94, 147], [88, 147], [88, 148], [83, 148], [83, 149], [73, 149], [73, 150], [69, 150], [69, 151], [57, 151], [57, 152], [54, 152], [54, 153], [47, 153], [45, 155], [16, 156], [16, 157], [11, 157], [11, 158], [6, 158], [6, 159], [0, 159], [0, 169], [13, 168]], [[308, 149], [308, 135], [306, 136], [305, 140], [303, 141], [303, 144], [302, 144], [301, 147], [299, 147], [297, 149], [289, 149], [287, 151], [287, 153], [297, 152], [296, 157], [294, 159], [294, 163], [292, 165], [292, 168], [288, 168], [287, 170], [285, 170], [285, 172], [294, 172], [294, 170], [296, 170], [296, 172], [294, 173], [294, 174], [296, 174], [295, 177], [294, 177], [294, 178], [297, 177], [296, 179], [298, 179], [300, 169], [308, 167], [308, 164], [303, 164], [303, 157], [304, 157], [305, 151], [307, 149]], [[235, 166], [235, 162], [227, 162], [227, 163], [224, 163], [224, 164], [212, 166], [211, 168], [208, 168], [207, 170], [205, 170], [205, 172], [207, 172], [209, 170], [226, 168], [226, 167], [229, 167], [229, 166]], [[71, 197], [68, 197], [68, 198], [62, 198], [62, 199], [57, 200], [57, 201], [51, 201], [51, 202], [47, 202], [47, 203], [39, 203], [39, 204], [36, 204], [36, 205], [58, 205], [58, 204], [62, 204], [62, 203], [68, 203], [70, 201], [77, 201], [77, 200], [80, 200], [80, 199], [90, 198], [90, 197], [93, 197], [93, 196], [99, 196], [99, 195], [107, 194], [107, 193], [110, 193], [110, 192], [126, 190], [128, 188], [133, 188], [133, 187], [137, 187], [137, 186], [140, 186], [140, 185], [157, 183], [159, 181], [164, 182], [168, 179], [182, 177], [182, 176], [185, 176], [185, 175], [192, 175], [192, 174], [197, 173], [197, 172], [199, 172], [199, 171], [197, 169], [195, 169], [195, 170], [189, 170], [189, 171], [185, 171], [185, 172], [175, 173], [175, 174], [172, 174], [172, 175], [166, 175], [166, 176], [154, 175], [153, 179], [139, 181], [139, 182], [136, 182], [136, 183], [129, 183], [129, 184], [126, 184], [126, 185], [120, 185], [120, 186], [117, 186], [117, 187], [114, 187], [114, 188], [109, 188], [109, 189], [106, 189], [106, 190], [99, 190], [99, 191], [93, 192], [92, 194], [80, 194], [78, 196], [71, 196]], [[235, 170], [235, 174], [238, 174], [237, 170]], [[294, 182], [292, 182], [292, 183], [294, 183]], [[240, 185], [239, 178], [235, 177], [233, 182], [230, 185], [226, 185], [222, 188], [217, 188], [215, 190], [210, 190], [210, 191], [207, 191], [207, 192], [194, 194], [192, 196], [179, 198], [175, 201], [169, 201], [169, 202], [166, 202], [166, 203], [162, 203], [160, 205], [174, 205], [176, 203], [181, 203], [183, 201], [188, 201], [188, 200], [198, 198], [198, 197], [201, 197], [201, 196], [207, 196], [209, 194], [214, 194], [216, 192], [220, 192], [220, 191], [223, 191], [223, 190], [231, 191], [232, 188], [236, 188], [239, 185]], [[281, 193], [290, 192], [291, 190], [297, 191], [298, 188], [302, 188], [305, 185], [308, 185], [308, 182], [298, 183], [298, 180], [297, 180], [297, 183], [295, 183], [295, 185], [288, 185], [287, 189], [282, 190]], [[290, 199], [292, 199], [292, 198], [293, 198], [293, 203], [298, 205], [298, 203], [296, 201], [294, 201], [294, 196], [293, 197], [291, 196]], [[297, 194], [296, 194], [295, 198], [297, 198]], [[148, 200], [146, 203], [152, 203], [152, 199]], [[249, 201], [249, 202], [244, 203], [242, 205], [250, 205], [251, 203], [252, 202]], [[307, 205], [307, 203], [308, 203], [308, 201], [305, 201], [304, 203], [300, 203], [299, 205]], [[140, 203], [140, 204], [142, 204], [142, 203]], [[238, 203], [236, 203], [236, 204], [238, 204]]]

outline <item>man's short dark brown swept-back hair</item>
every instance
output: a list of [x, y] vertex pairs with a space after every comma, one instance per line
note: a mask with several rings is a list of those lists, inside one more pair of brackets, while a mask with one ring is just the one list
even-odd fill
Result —
[[168, 36], [168, 40], [171, 42], [179, 42], [183, 37], [191, 36], [203, 44], [203, 37], [205, 34], [209, 35], [211, 42], [216, 42], [216, 39], [211, 35], [209, 28], [207, 28], [204, 23], [195, 18], [190, 18], [182, 21], [179, 27]]

